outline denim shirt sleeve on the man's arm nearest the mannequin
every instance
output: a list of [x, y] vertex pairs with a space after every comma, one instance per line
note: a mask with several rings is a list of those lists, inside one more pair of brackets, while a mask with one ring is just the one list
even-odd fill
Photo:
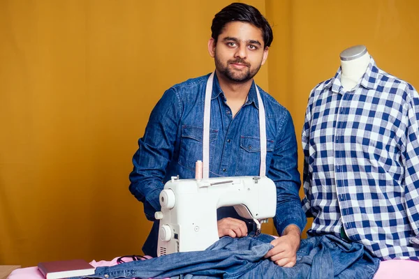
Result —
[[302, 232], [307, 220], [299, 195], [301, 181], [297, 169], [297, 140], [293, 120], [288, 111], [278, 130], [268, 176], [277, 186], [274, 226], [278, 234], [282, 235], [288, 225], [297, 225]]

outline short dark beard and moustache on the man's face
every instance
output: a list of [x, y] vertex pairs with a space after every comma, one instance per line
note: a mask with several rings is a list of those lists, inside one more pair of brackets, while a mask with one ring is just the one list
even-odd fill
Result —
[[[219, 60], [216, 54], [214, 60], [215, 68], [219, 70], [219, 73], [221, 73], [228, 80], [236, 83], [248, 82], [258, 73], [260, 66], [262, 66], [262, 62], [260, 62], [260, 64], [256, 68], [251, 68], [251, 65], [249, 63], [240, 58], [228, 60], [227, 63], [224, 64]], [[243, 68], [242, 70], [231, 69], [230, 67], [228, 67], [231, 63], [242, 63], [245, 66], [247, 66], [247, 68]]]

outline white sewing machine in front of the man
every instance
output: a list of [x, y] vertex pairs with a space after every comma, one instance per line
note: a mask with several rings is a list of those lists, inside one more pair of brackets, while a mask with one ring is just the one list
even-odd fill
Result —
[[211, 179], [172, 177], [160, 193], [157, 255], [205, 250], [219, 240], [216, 209], [234, 206], [243, 218], [260, 223], [275, 216], [277, 188], [267, 177]]

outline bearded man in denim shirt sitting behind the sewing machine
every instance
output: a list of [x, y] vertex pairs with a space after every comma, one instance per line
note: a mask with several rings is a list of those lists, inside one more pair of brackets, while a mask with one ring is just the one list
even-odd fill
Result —
[[[244, 3], [232, 3], [212, 22], [208, 51], [215, 61], [211, 92], [210, 177], [259, 175], [259, 107], [253, 77], [267, 59], [272, 29], [260, 12]], [[156, 255], [160, 210], [159, 193], [170, 176], [195, 176], [195, 163], [203, 160], [205, 89], [210, 75], [172, 86], [163, 94], [133, 156], [131, 193], [144, 203], [145, 215], [154, 221], [143, 247]], [[280, 266], [293, 266], [306, 219], [298, 191], [297, 145], [288, 111], [259, 89], [265, 107], [267, 176], [277, 186], [279, 232], [275, 247], [265, 257]], [[233, 208], [217, 213], [219, 236], [242, 237], [248, 229]]]

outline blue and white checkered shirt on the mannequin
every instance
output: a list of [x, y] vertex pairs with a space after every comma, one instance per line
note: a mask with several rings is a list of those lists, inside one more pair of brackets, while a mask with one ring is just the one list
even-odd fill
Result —
[[302, 146], [309, 234], [344, 229], [380, 259], [419, 259], [419, 96], [371, 58], [355, 89], [341, 69], [310, 94]]

